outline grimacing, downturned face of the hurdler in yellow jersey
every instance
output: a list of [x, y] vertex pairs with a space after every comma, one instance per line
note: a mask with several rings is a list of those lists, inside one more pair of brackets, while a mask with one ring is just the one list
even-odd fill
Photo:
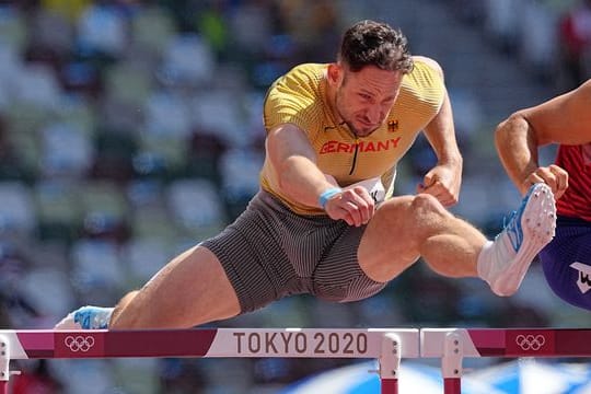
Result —
[[[386, 119], [398, 95], [403, 74], [370, 66], [352, 72], [335, 65], [335, 107], [359, 137], [367, 137]], [[331, 72], [331, 70], [329, 70]]]

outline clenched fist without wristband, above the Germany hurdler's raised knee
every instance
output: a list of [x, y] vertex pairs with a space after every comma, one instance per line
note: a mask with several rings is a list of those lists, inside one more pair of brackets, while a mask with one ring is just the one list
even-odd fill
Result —
[[439, 164], [432, 167], [417, 186], [417, 193], [427, 193], [436, 197], [444, 207], [457, 204], [462, 169], [452, 164]]

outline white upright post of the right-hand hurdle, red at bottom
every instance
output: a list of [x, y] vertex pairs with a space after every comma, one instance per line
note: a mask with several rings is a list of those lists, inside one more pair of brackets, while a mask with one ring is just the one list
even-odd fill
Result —
[[441, 358], [444, 394], [460, 394], [462, 392], [463, 348], [460, 333], [453, 331], [445, 335], [443, 357]]

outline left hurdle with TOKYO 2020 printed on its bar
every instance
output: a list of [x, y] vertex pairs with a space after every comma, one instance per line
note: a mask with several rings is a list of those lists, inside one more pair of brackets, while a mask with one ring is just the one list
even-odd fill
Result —
[[402, 358], [419, 357], [415, 328], [195, 328], [141, 331], [0, 329], [0, 394], [10, 360], [69, 358], [376, 359], [381, 394], [398, 393]]

